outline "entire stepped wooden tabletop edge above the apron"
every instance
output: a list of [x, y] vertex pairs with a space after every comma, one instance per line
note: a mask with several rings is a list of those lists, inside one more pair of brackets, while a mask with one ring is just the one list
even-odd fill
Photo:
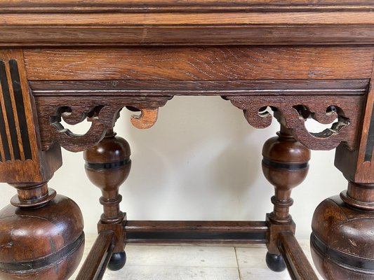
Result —
[[374, 43], [373, 1], [264, 2], [6, 0], [0, 45]]

